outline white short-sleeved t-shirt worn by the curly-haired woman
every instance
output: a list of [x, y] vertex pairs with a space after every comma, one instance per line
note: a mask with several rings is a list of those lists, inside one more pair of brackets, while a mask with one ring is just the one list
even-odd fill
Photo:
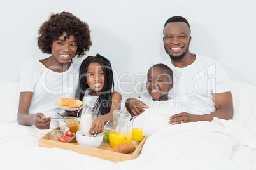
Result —
[[71, 63], [66, 72], [53, 72], [39, 60], [25, 64], [20, 75], [20, 92], [33, 92], [29, 114], [41, 112], [46, 117], [55, 117], [62, 112], [57, 99], [75, 97], [79, 67], [80, 64]]

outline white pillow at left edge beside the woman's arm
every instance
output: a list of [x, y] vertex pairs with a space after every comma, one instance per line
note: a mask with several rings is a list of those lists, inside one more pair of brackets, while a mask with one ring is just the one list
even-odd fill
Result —
[[0, 123], [11, 122], [17, 117], [19, 82], [0, 82]]

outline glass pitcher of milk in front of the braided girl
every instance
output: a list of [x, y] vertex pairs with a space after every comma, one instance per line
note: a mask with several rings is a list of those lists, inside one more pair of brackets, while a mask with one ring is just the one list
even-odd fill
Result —
[[93, 109], [94, 100], [90, 97], [83, 98], [83, 110], [80, 116], [79, 130], [88, 131], [92, 127], [92, 121], [96, 115]]

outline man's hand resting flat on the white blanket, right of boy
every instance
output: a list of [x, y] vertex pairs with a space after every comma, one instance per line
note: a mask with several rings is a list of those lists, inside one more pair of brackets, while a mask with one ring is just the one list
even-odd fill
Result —
[[182, 112], [180, 114], [175, 114], [169, 118], [169, 124], [181, 124], [188, 122], [197, 122], [202, 121], [202, 115], [194, 115], [188, 114], [186, 112]]

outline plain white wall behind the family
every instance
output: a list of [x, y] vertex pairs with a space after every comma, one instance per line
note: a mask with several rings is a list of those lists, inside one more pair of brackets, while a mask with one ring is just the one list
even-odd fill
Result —
[[49, 56], [43, 55], [36, 44], [38, 28], [50, 13], [61, 11], [69, 11], [89, 24], [93, 45], [87, 56], [100, 53], [109, 58], [118, 81], [131, 83], [118, 83], [117, 90], [124, 97], [137, 97], [134, 86], [143, 79], [138, 74], [169, 58], [162, 45], [162, 29], [167, 18], [174, 15], [190, 22], [192, 53], [220, 62], [230, 79], [256, 86], [253, 0], [4, 1], [0, 10], [0, 82], [18, 82], [25, 62]]

